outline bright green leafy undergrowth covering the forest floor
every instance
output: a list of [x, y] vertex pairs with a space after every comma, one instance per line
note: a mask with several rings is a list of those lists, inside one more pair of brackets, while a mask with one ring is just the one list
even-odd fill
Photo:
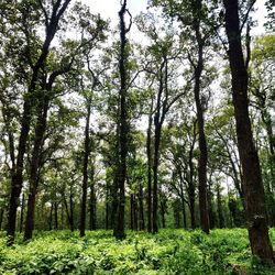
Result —
[[[275, 229], [271, 230], [275, 245]], [[37, 232], [23, 243], [19, 234], [13, 248], [0, 233], [0, 274], [275, 274], [251, 257], [245, 229], [201, 231], [161, 230], [153, 235], [128, 232], [116, 241], [111, 231]]]

